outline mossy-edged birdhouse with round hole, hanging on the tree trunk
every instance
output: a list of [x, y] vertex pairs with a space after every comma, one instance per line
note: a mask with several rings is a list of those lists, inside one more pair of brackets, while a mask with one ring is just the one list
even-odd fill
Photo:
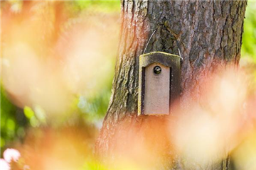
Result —
[[139, 57], [138, 115], [169, 115], [180, 95], [181, 58], [165, 52]]

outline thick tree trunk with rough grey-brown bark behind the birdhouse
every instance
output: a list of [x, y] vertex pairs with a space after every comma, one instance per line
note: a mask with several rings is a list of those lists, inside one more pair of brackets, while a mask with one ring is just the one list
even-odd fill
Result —
[[[112, 97], [97, 140], [97, 154], [114, 161], [118, 148], [132, 149], [134, 142], [144, 141], [150, 153], [165, 153], [156, 154], [159, 162], [169, 159], [158, 169], [186, 169], [166, 140], [167, 118], [137, 116], [139, 55], [148, 41], [145, 53], [178, 55], [180, 47], [181, 108], [186, 109], [200, 96], [200, 79], [220, 65], [238, 65], [246, 5], [247, 0], [123, 0]], [[228, 161], [209, 163], [208, 169], [228, 169]]]

